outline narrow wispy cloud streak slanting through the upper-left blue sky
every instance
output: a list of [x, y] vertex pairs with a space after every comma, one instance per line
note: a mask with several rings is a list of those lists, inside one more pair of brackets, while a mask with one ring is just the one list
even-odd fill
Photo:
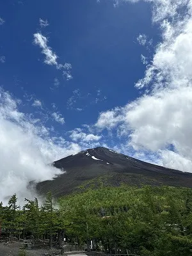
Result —
[[72, 79], [72, 75], [70, 73], [72, 66], [70, 63], [65, 63], [64, 65], [58, 63], [58, 56], [52, 51], [51, 47], [47, 45], [48, 40], [41, 33], [35, 33], [33, 36], [34, 43], [42, 49], [42, 54], [45, 55], [44, 63], [47, 65], [55, 65], [59, 70], [63, 69], [63, 76], [65, 76], [67, 80]]

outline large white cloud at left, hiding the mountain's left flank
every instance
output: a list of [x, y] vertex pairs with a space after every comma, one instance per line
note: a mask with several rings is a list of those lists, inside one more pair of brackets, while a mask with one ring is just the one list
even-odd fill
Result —
[[0, 90], [0, 201], [17, 193], [31, 198], [31, 180], [52, 179], [60, 170], [47, 165], [76, 154], [81, 147], [50, 136], [49, 127], [19, 111], [20, 100]]

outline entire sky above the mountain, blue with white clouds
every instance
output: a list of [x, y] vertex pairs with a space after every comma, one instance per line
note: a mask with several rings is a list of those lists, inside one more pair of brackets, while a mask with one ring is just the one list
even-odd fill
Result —
[[191, 172], [191, 6], [1, 1], [0, 195], [98, 146]]

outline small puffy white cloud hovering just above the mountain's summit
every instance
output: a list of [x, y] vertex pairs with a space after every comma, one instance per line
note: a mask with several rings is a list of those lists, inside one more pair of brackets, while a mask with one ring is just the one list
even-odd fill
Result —
[[70, 131], [70, 138], [73, 141], [81, 140], [82, 142], [99, 141], [102, 138], [99, 135], [86, 134], [80, 128], [76, 128], [74, 131]]

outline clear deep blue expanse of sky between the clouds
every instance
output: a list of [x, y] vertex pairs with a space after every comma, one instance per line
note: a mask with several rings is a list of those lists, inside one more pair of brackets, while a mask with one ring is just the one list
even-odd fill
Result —
[[[82, 124], [94, 124], [101, 111], [124, 106], [138, 97], [134, 83], [145, 71], [141, 54], [151, 54], [137, 37], [146, 34], [156, 40], [158, 34], [151, 24], [148, 3], [115, 8], [113, 1], [43, 0], [6, 1], [0, 7], [5, 20], [1, 55], [6, 58], [1, 63], [1, 86], [21, 100], [25, 94], [34, 95], [49, 111], [55, 103], [65, 118], [65, 125], [53, 124], [61, 134]], [[41, 27], [40, 19], [47, 20], [49, 26]], [[61, 70], [44, 63], [44, 54], [33, 43], [35, 33], [47, 37], [59, 63], [72, 65], [73, 79], [67, 81]], [[54, 80], [60, 83], [58, 88]], [[81, 96], [68, 106], [75, 90]], [[36, 111], [30, 104], [33, 100], [21, 110]]]

